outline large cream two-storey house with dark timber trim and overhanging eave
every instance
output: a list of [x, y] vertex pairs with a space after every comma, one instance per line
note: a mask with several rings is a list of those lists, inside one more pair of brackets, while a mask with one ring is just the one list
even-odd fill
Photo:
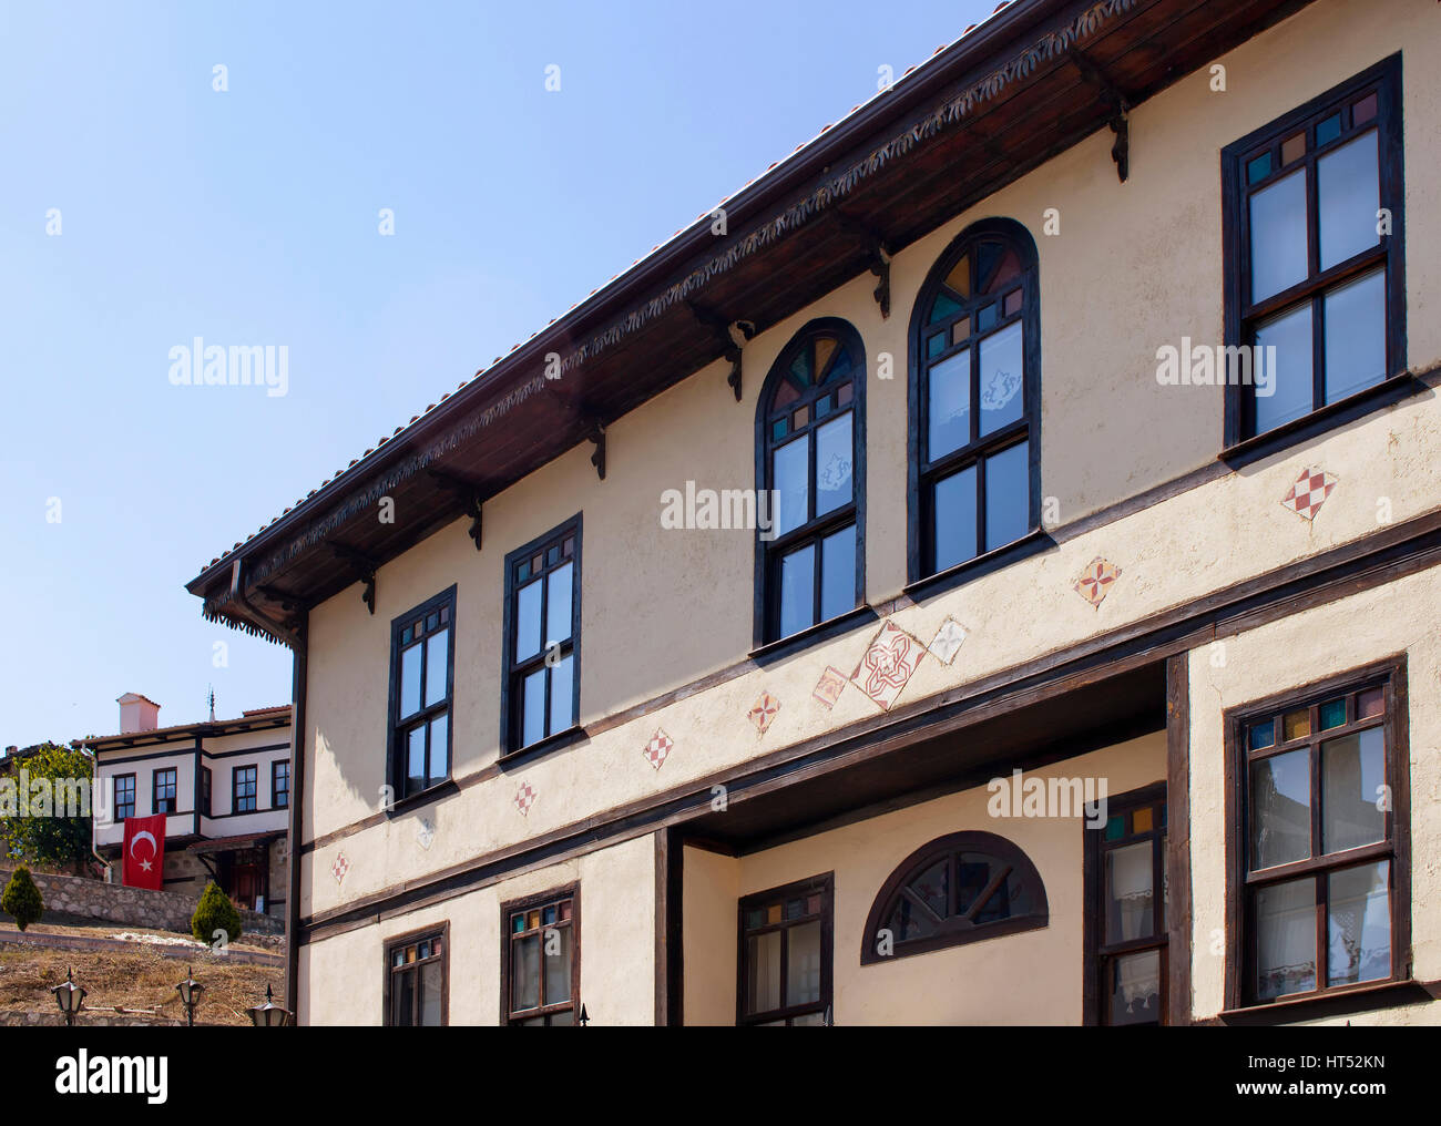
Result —
[[1441, 1018], [1438, 27], [1017, 0], [213, 560], [300, 1019]]

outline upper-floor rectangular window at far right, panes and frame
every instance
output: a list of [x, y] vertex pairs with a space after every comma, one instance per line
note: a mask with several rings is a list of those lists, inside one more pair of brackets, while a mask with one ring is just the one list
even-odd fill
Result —
[[1223, 150], [1228, 445], [1405, 370], [1401, 147], [1398, 55]]

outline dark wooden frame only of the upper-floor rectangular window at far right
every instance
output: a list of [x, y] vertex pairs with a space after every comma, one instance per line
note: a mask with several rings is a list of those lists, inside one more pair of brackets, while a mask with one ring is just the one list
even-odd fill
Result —
[[[1311, 144], [1313, 127], [1333, 111], [1344, 109], [1343, 122], [1350, 121], [1350, 105], [1368, 88], [1375, 88], [1376, 117], [1359, 128], [1347, 128], [1324, 145]], [[1405, 176], [1402, 135], [1402, 86], [1401, 55], [1392, 55], [1375, 66], [1362, 71], [1317, 98], [1306, 102], [1290, 114], [1255, 130], [1221, 151], [1222, 170], [1222, 230], [1225, 246], [1225, 343], [1228, 346], [1254, 344], [1255, 323], [1275, 312], [1313, 302], [1311, 315], [1311, 359], [1313, 392], [1310, 413], [1282, 423], [1271, 431], [1254, 433], [1255, 397], [1249, 387], [1226, 384], [1225, 387], [1225, 451], [1228, 461], [1249, 462], [1284, 449], [1326, 429], [1339, 426], [1360, 415], [1393, 402], [1396, 393], [1409, 390], [1406, 376], [1406, 301], [1405, 301]], [[1285, 137], [1307, 128], [1307, 153], [1300, 161], [1274, 168], [1255, 184], [1245, 183], [1246, 164], [1267, 150], [1277, 148]], [[1363, 251], [1344, 262], [1320, 269], [1317, 176], [1316, 161], [1330, 151], [1347, 144], [1355, 137], [1376, 130], [1378, 158], [1380, 163], [1380, 206], [1391, 209], [1391, 235], [1383, 236], [1376, 246]], [[1280, 164], [1280, 161], [1277, 161]], [[1251, 226], [1248, 199], [1277, 180], [1290, 176], [1297, 168], [1306, 168], [1307, 187], [1307, 278], [1288, 289], [1274, 294], [1257, 304], [1249, 301], [1251, 281]], [[1339, 284], [1369, 274], [1383, 265], [1386, 272], [1386, 377], [1372, 387], [1339, 399], [1334, 403], [1317, 406], [1324, 396], [1324, 311], [1323, 295]]]

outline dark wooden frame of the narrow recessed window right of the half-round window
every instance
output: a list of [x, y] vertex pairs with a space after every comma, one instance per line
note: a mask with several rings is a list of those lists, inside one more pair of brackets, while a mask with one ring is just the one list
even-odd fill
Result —
[[[1082, 865], [1082, 884], [1085, 891], [1085, 906], [1082, 919], [1085, 926], [1085, 988], [1082, 991], [1082, 1021], [1088, 1025], [1105, 1024], [1105, 1008], [1110, 1004], [1107, 989], [1107, 959], [1117, 955], [1136, 953], [1140, 950], [1159, 949], [1161, 952], [1161, 1012], [1160, 1022], [1172, 1021], [1172, 991], [1170, 991], [1170, 919], [1167, 916], [1166, 894], [1166, 864], [1169, 852], [1167, 829], [1170, 828], [1167, 786], [1156, 782], [1150, 786], [1117, 793], [1107, 798], [1107, 815], [1130, 814], [1136, 809], [1159, 805], [1166, 811], [1164, 819], [1157, 818], [1148, 832], [1130, 834], [1118, 841], [1104, 841], [1104, 827], [1089, 828], [1082, 821], [1085, 834], [1085, 862]], [[1153, 910], [1156, 911], [1156, 933], [1147, 939], [1133, 939], [1130, 942], [1107, 943], [1105, 932], [1105, 854], [1112, 848], [1153, 841], [1154, 862], [1151, 868], [1151, 887], [1154, 894]], [[1182, 950], [1180, 956], [1189, 956], [1189, 950]]]

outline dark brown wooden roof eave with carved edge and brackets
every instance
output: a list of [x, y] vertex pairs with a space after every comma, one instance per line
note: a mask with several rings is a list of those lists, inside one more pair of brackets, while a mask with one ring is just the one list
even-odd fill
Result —
[[[206, 618], [294, 644], [300, 611], [360, 577], [336, 544], [383, 564], [465, 514], [454, 482], [493, 497], [720, 359], [722, 335], [692, 305], [764, 331], [867, 272], [876, 242], [893, 255], [1107, 128], [1107, 89], [1134, 107], [1307, 3], [1016, 0], [726, 200], [729, 235], [702, 216], [187, 589]], [[1123, 207], [1130, 189], [1111, 190]], [[545, 379], [549, 353], [559, 380]], [[745, 367], [746, 384], [762, 377]], [[719, 409], [749, 409], [715, 379]], [[393, 524], [376, 518], [380, 497]]]

